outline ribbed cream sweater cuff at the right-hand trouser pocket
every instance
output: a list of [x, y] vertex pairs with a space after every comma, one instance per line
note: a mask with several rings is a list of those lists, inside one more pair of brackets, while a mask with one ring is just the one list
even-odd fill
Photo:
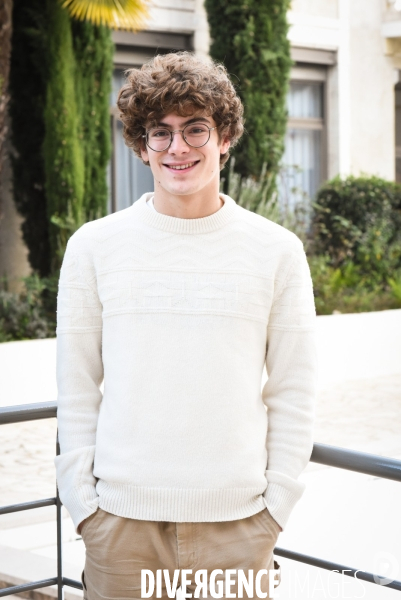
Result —
[[295, 504], [305, 491], [305, 484], [278, 471], [266, 471], [267, 488], [263, 494], [272, 517], [285, 529]]

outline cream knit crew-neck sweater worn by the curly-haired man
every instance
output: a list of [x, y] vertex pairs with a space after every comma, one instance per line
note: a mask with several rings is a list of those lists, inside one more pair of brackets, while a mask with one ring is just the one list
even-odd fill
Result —
[[149, 210], [151, 195], [68, 242], [61, 500], [75, 526], [98, 506], [179, 522], [267, 506], [284, 528], [313, 443], [315, 308], [302, 244], [228, 196], [208, 217], [179, 219]]

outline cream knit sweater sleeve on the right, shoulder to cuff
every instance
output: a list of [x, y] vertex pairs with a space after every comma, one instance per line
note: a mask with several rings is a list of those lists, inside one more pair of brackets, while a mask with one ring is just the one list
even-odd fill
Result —
[[316, 312], [312, 279], [301, 242], [273, 299], [267, 327], [268, 409], [265, 504], [284, 529], [305, 484], [298, 476], [313, 449], [317, 389]]

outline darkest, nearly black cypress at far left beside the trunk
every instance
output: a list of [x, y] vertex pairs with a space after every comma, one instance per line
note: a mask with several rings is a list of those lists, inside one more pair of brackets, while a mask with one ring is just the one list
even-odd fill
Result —
[[14, 0], [10, 62], [13, 195], [23, 217], [22, 236], [31, 267], [50, 273], [50, 246], [42, 157], [47, 81], [46, 7], [43, 0]]

